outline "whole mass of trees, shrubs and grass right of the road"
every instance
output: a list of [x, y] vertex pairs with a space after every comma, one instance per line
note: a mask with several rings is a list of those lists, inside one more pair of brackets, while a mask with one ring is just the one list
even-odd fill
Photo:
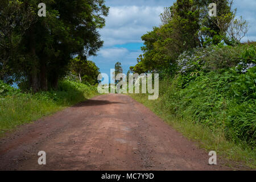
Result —
[[159, 100], [133, 97], [204, 148], [255, 168], [256, 44], [240, 43], [248, 23], [235, 18], [232, 0], [210, 2], [177, 0], [142, 36], [130, 72], [160, 73]]

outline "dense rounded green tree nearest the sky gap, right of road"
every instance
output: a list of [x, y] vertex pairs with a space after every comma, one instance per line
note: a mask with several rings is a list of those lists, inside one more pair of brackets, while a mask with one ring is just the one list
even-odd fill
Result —
[[144, 72], [170, 68], [180, 53], [200, 46], [199, 11], [193, 1], [178, 0], [165, 11], [161, 16], [165, 23], [142, 36], [143, 55], [138, 58], [138, 67]]

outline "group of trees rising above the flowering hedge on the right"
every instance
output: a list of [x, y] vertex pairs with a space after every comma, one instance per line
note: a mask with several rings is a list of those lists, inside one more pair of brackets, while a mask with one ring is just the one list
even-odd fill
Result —
[[[216, 3], [217, 16], [209, 16], [208, 6]], [[206, 47], [225, 42], [239, 43], [248, 31], [245, 20], [236, 19], [233, 0], [177, 0], [160, 14], [162, 24], [142, 36], [143, 54], [134, 72], [175, 71], [180, 53], [196, 47]]]

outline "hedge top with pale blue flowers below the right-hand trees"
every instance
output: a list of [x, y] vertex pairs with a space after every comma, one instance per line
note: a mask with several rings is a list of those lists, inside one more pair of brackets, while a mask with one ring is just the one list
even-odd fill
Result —
[[255, 66], [255, 46], [237, 45], [208, 46], [184, 51], [180, 54], [177, 63], [177, 72], [183, 75], [194, 75], [195, 73], [210, 72], [216, 70], [236, 67], [240, 72], [245, 73], [247, 69]]

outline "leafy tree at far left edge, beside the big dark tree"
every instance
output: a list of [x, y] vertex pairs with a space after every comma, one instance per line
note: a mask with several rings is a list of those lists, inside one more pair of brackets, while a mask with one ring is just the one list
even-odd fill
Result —
[[[20, 76], [15, 60], [24, 57], [20, 43], [28, 28], [36, 21], [31, 6], [24, 7], [20, 1], [0, 2], [0, 79], [11, 83]], [[15, 73], [15, 75], [14, 75]]]

